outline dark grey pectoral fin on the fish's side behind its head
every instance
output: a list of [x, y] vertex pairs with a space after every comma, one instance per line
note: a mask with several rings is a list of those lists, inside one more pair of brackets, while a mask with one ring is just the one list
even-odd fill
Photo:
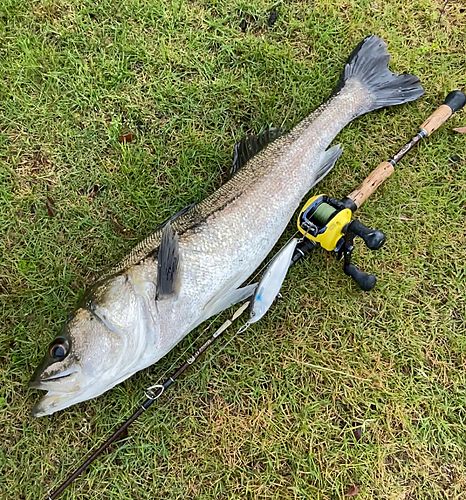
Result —
[[180, 252], [178, 234], [170, 221], [165, 224], [157, 261], [157, 300], [173, 297], [179, 291]]

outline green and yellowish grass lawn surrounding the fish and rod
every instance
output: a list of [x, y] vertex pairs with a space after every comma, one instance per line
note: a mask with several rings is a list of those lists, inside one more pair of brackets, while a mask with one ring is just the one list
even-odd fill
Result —
[[[104, 396], [33, 419], [27, 381], [92, 277], [220, 186], [244, 133], [318, 106], [374, 32], [426, 95], [340, 134], [314, 193], [348, 193], [465, 85], [465, 29], [461, 0], [3, 0], [1, 498], [45, 496], [197, 345], [199, 331]], [[296, 266], [260, 323], [63, 498], [339, 499], [354, 484], [361, 499], [464, 498], [466, 142], [451, 132], [464, 116], [361, 210], [387, 234], [379, 252], [357, 248], [374, 291], [331, 255]]]

